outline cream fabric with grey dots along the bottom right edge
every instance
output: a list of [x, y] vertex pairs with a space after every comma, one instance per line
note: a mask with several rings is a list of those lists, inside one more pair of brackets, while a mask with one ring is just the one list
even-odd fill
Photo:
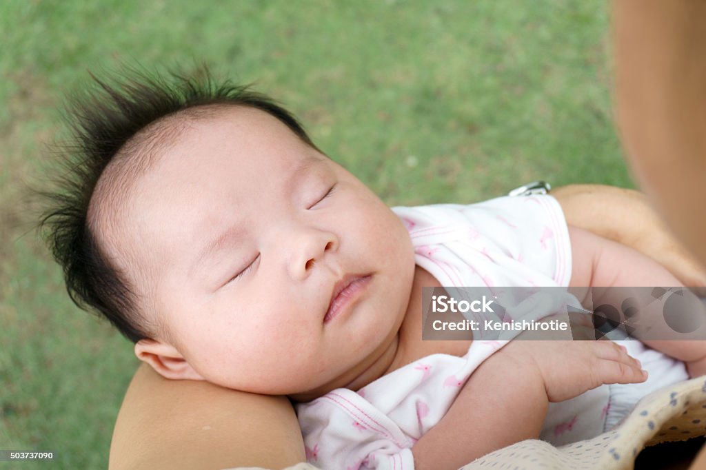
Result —
[[[706, 378], [703, 377], [647, 395], [614, 429], [595, 438], [561, 447], [541, 440], [524, 440], [481, 457], [462, 470], [633, 469], [635, 457], [644, 447], [701, 435], [706, 435]], [[298, 464], [287, 470], [318, 469]]]

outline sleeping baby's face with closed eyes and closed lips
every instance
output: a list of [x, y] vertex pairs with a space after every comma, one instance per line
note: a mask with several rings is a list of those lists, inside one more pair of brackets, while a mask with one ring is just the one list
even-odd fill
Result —
[[127, 220], [155, 316], [219, 385], [344, 386], [407, 308], [414, 256], [397, 216], [255, 109], [192, 123], [140, 176]]

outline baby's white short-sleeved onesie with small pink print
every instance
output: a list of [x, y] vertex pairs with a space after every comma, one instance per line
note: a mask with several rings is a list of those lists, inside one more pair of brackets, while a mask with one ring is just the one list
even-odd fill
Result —
[[[551, 196], [393, 210], [407, 227], [417, 265], [442, 286], [568, 284], [568, 229]], [[463, 357], [433, 354], [358, 393], [338, 389], [297, 404], [307, 459], [322, 469], [412, 470], [414, 442], [441, 420], [473, 370], [506, 343], [474, 338]], [[551, 432], [578, 433], [579, 427], [578, 418], [568, 418]]]

